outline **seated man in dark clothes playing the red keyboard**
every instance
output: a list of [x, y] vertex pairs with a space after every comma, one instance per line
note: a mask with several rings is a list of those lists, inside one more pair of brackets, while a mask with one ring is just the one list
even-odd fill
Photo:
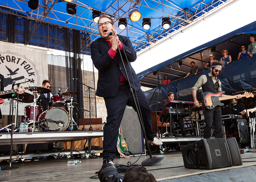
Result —
[[[164, 106], [164, 104], [168, 101], [168, 100], [174, 100], [174, 93], [173, 92], [169, 92], [168, 95], [167, 95], [168, 99], [166, 100], [163, 100], [161, 106], [160, 106], [160, 110], [162, 111], [163, 109], [166, 109], [166, 108], [169, 108], [169, 107], [166, 107]], [[173, 109], [176, 109], [176, 107], [174, 107]], [[183, 109], [183, 108], [177, 108], [177, 109]], [[184, 109], [188, 109], [188, 108], [184, 108]], [[163, 120], [162, 120], [163, 119]], [[165, 122], [170, 122], [170, 116], [164, 116], [164, 115], [161, 115], [160, 117], [160, 121], [163, 121], [164, 123]], [[172, 129], [172, 133], [174, 133], [174, 129], [176, 128], [175, 127], [175, 124], [174, 122], [178, 122], [179, 123], [179, 128], [181, 129], [182, 131], [182, 135], [185, 135], [185, 128], [184, 128], [184, 123], [183, 123], [183, 120], [182, 120], [182, 117], [178, 115], [173, 115], [171, 117], [171, 129]]]

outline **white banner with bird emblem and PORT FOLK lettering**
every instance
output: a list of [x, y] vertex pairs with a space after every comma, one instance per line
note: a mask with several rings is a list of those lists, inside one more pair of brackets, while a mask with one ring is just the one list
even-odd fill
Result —
[[[34, 83], [21, 85], [41, 87], [43, 80], [48, 79], [47, 51], [0, 41], [0, 68], [4, 76], [4, 90], [11, 90], [13, 80], [17, 84], [30, 79]], [[32, 94], [29, 90], [26, 92]], [[28, 105], [33, 103], [19, 103], [19, 115], [24, 115], [24, 108]], [[5, 99], [0, 107], [3, 115], [9, 115], [10, 99]]]

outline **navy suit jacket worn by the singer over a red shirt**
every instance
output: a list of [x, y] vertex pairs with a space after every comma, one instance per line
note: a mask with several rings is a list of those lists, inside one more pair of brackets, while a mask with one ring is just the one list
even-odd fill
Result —
[[[132, 47], [132, 43], [129, 38], [121, 36], [121, 39], [123, 42], [123, 49], [121, 50], [121, 55], [124, 60], [124, 65], [127, 70], [128, 78], [132, 88], [138, 91], [141, 87], [141, 83], [139, 82], [138, 77], [131, 66], [131, 62], [136, 60], [137, 55], [134, 48]], [[107, 43], [107, 41], [102, 38], [93, 41], [90, 46], [93, 64], [99, 71], [96, 95], [104, 98], [116, 96], [119, 88], [121, 73], [126, 78], [119, 52], [115, 54], [116, 56], [114, 56], [114, 58], [111, 58], [108, 54], [110, 48], [111, 47]], [[126, 53], [128, 62], [124, 55], [124, 51]], [[129, 70], [129, 66], [131, 67], [132, 76]], [[132, 77], [134, 80], [134, 84], [132, 83]]]

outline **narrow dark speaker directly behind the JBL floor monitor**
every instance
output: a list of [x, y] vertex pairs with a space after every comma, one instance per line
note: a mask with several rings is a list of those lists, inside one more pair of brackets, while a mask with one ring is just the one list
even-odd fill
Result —
[[228, 138], [227, 144], [230, 150], [233, 166], [242, 165], [242, 158], [235, 138]]

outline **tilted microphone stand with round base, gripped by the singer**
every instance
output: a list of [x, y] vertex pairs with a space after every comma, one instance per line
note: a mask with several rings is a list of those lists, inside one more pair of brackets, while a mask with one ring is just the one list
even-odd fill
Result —
[[[120, 36], [119, 36], [119, 38], [120, 38], [121, 44], [123, 44]], [[150, 156], [150, 158], [143, 160], [141, 162], [141, 165], [142, 166], [152, 166], [152, 165], [157, 164], [158, 162], [162, 161], [163, 160], [163, 156], [159, 155], [159, 156], [152, 157], [151, 151], [149, 149], [149, 143], [148, 143], [148, 140], [147, 140], [147, 137], [146, 137], [145, 127], [144, 127], [144, 124], [143, 124], [142, 119], [141, 119], [141, 114], [140, 114], [140, 112], [138, 110], [138, 106], [137, 106], [137, 103], [136, 103], [136, 100], [135, 100], [135, 97], [134, 97], [133, 89], [131, 87], [131, 84], [130, 84], [130, 81], [129, 81], [129, 78], [128, 78], [128, 74], [127, 74], [127, 71], [126, 71], [126, 68], [125, 68], [125, 65], [124, 65], [124, 60], [122, 58], [121, 51], [120, 51], [118, 45], [117, 45], [117, 48], [118, 48], [118, 52], [119, 52], [120, 57], [121, 57], [122, 64], [124, 66], [124, 72], [125, 72], [125, 75], [126, 75], [126, 78], [127, 78], [127, 82], [129, 84], [129, 90], [130, 90], [130, 92], [132, 94], [132, 99], [133, 99], [133, 102], [134, 102], [134, 105], [135, 105], [135, 108], [136, 108], [136, 111], [137, 111], [137, 114], [138, 114], [138, 118], [139, 118], [139, 121], [140, 121], [140, 124], [141, 124], [142, 133], [143, 133], [143, 136], [145, 138], [146, 147], [148, 149], [149, 156]], [[124, 50], [124, 48], [123, 48], [123, 50]], [[125, 51], [124, 51], [124, 53], [125, 53]], [[128, 60], [127, 60], [127, 63], [128, 63]], [[128, 65], [129, 65], [129, 63], [128, 63]], [[130, 72], [132, 73], [132, 71], [130, 71]]]

